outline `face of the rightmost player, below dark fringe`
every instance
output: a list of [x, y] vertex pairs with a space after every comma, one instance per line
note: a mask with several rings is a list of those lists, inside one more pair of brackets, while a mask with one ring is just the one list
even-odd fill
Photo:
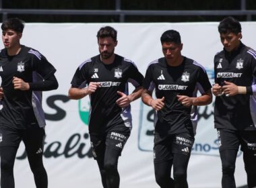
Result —
[[232, 50], [236, 50], [240, 44], [240, 40], [242, 38], [242, 34], [234, 34], [232, 32], [228, 32], [226, 34], [220, 34], [220, 41], [222, 42], [225, 50], [231, 52]]

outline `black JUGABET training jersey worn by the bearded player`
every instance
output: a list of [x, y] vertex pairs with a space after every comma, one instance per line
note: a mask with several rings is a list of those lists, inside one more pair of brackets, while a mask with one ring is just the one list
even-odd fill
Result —
[[128, 95], [128, 82], [134, 87], [142, 84], [143, 76], [131, 60], [115, 54], [112, 64], [104, 64], [100, 55], [83, 62], [71, 81], [72, 87], [84, 88], [90, 82], [100, 87], [90, 95], [90, 134], [106, 134], [108, 130], [124, 132], [131, 129], [131, 106], [121, 108], [116, 101], [117, 91]]

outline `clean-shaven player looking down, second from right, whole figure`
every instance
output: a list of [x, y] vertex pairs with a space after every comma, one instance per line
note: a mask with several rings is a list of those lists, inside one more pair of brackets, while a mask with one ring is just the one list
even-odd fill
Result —
[[[161, 188], [186, 188], [187, 165], [194, 142], [191, 106], [212, 102], [211, 84], [203, 66], [181, 54], [181, 36], [167, 30], [160, 38], [164, 57], [148, 66], [142, 101], [156, 110], [154, 169]], [[193, 97], [202, 87], [199, 97]], [[155, 89], [156, 99], [152, 98]], [[173, 177], [171, 169], [173, 166]]]

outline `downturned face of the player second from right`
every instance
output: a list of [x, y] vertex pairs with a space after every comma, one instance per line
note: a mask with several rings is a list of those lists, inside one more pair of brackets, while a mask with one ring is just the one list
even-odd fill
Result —
[[181, 57], [181, 50], [183, 44], [176, 44], [174, 42], [163, 42], [162, 43], [162, 52], [167, 62], [175, 64], [177, 60]]

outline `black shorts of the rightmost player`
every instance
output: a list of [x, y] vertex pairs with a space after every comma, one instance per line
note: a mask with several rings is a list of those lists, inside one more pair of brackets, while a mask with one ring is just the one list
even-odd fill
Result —
[[256, 131], [217, 129], [219, 150], [238, 150], [256, 154]]

